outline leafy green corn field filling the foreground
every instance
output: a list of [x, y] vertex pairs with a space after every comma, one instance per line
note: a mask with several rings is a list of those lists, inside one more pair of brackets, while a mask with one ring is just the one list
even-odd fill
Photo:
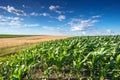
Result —
[[41, 42], [0, 62], [3, 80], [119, 80], [120, 36]]

